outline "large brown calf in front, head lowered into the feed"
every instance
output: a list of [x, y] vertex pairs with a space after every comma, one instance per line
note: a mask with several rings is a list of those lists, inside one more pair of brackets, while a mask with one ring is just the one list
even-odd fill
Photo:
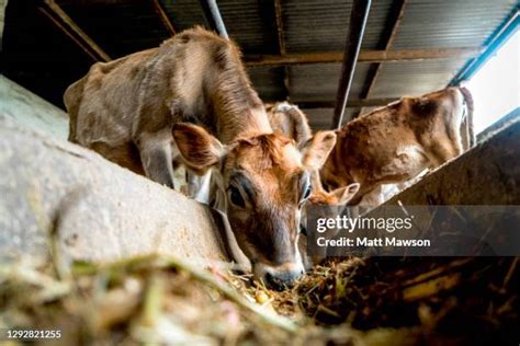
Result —
[[173, 161], [212, 175], [208, 200], [227, 215], [256, 276], [275, 287], [301, 276], [301, 207], [336, 135], [318, 132], [296, 148], [273, 134], [233, 43], [185, 31], [95, 64], [65, 103], [74, 142], [168, 186]]

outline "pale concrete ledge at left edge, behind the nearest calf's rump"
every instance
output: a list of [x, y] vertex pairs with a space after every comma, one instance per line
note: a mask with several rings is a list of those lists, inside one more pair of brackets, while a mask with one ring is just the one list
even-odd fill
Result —
[[67, 113], [0, 76], [0, 118], [9, 118], [26, 127], [66, 140], [69, 134]]

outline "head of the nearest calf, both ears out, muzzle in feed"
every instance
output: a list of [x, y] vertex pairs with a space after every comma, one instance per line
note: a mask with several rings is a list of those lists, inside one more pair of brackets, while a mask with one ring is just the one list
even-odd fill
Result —
[[304, 272], [297, 241], [310, 172], [324, 164], [336, 135], [318, 132], [301, 148], [281, 134], [224, 146], [202, 127], [177, 124], [173, 137], [189, 169], [213, 169], [216, 207], [227, 214], [256, 277], [273, 288], [291, 286]]

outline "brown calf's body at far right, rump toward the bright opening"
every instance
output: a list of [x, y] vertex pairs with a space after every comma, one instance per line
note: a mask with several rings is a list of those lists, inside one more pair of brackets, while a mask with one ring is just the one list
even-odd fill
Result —
[[361, 198], [382, 184], [402, 183], [441, 165], [463, 151], [465, 109], [471, 118], [468, 91], [448, 88], [403, 97], [348, 123], [320, 171], [323, 183], [327, 188], [360, 183]]

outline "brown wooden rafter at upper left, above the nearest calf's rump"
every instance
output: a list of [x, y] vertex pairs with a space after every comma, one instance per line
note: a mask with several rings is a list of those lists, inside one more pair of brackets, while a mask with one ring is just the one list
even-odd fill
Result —
[[45, 0], [41, 12], [47, 16], [63, 33], [69, 36], [89, 56], [99, 61], [110, 61], [112, 58], [87, 35], [75, 21], [54, 1]]

